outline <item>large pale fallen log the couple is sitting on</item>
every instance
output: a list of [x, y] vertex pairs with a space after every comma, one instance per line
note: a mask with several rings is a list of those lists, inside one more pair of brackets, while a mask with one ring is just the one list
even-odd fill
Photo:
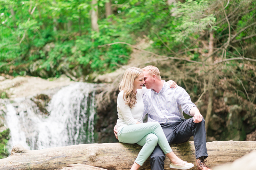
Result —
[[[256, 141], [219, 141], [208, 142], [207, 165], [213, 167], [242, 157], [256, 150]], [[172, 144], [174, 153], [184, 161], [195, 164], [194, 142]], [[141, 146], [137, 144], [106, 143], [82, 144], [65, 147], [28, 151], [21, 145], [12, 148], [11, 156], [0, 159], [1, 170], [33, 169], [56, 170], [69, 164], [85, 164], [108, 170], [128, 170], [136, 159]], [[169, 168], [169, 159], [165, 159], [164, 169]], [[149, 159], [140, 168], [149, 170]], [[196, 167], [192, 168], [193, 170]]]

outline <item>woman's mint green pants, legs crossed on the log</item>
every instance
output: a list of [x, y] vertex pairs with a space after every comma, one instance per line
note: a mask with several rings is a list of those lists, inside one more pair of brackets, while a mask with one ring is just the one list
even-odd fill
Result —
[[124, 126], [117, 133], [119, 142], [139, 144], [143, 146], [135, 162], [140, 166], [148, 159], [158, 144], [164, 154], [172, 152], [172, 149], [164, 135], [164, 131], [158, 122], [132, 124]]

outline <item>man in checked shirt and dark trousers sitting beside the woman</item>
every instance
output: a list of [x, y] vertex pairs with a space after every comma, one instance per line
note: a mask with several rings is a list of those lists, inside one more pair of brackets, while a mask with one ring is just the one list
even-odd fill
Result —
[[[148, 114], [148, 122], [161, 124], [169, 144], [183, 143], [194, 136], [197, 169], [211, 170], [204, 164], [204, 159], [208, 157], [204, 119], [186, 90], [179, 86], [170, 89], [167, 83], [161, 81], [157, 67], [147, 66], [142, 70], [144, 85], [151, 89], [143, 95], [143, 117]], [[193, 117], [184, 119], [183, 111]], [[114, 132], [116, 135], [115, 129]], [[150, 155], [151, 170], [164, 170], [164, 159], [164, 152], [157, 145]]]

